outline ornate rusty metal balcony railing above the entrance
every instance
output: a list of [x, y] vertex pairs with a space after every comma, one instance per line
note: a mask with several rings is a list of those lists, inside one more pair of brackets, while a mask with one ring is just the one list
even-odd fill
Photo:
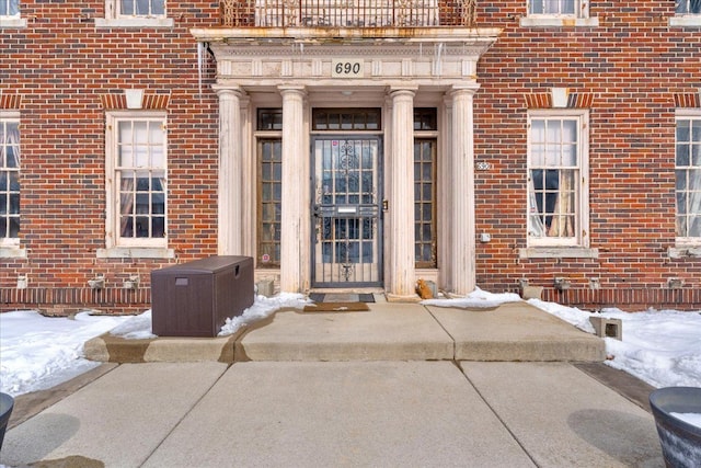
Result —
[[225, 27], [474, 26], [476, 0], [221, 0]]

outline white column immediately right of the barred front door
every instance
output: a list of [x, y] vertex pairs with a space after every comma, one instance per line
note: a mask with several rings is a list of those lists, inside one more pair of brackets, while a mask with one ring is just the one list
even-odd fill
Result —
[[388, 296], [416, 296], [414, 273], [414, 89], [395, 89], [392, 99]]

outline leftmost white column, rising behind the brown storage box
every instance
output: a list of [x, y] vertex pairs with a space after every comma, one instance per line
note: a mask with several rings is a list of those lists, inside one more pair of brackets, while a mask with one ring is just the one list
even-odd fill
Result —
[[242, 255], [243, 172], [240, 89], [219, 89], [218, 238], [220, 255]]

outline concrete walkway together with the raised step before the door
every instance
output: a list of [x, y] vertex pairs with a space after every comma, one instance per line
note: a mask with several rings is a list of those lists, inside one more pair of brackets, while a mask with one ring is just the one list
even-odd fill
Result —
[[0, 464], [664, 466], [650, 412], [602, 384], [602, 340], [525, 303], [286, 310], [228, 338], [87, 350], [123, 364], [19, 398]]

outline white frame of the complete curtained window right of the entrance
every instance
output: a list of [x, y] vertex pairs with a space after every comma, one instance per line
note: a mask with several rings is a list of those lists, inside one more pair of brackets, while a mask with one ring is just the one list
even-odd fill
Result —
[[[571, 238], [535, 237], [530, 233], [530, 174], [531, 174], [531, 123], [541, 119], [574, 119], [577, 123], [577, 167], [575, 176], [575, 232]], [[528, 164], [526, 222], [529, 248], [584, 248], [589, 247], [589, 111], [587, 110], [538, 110], [528, 112]], [[586, 256], [586, 255], [577, 255]]]

